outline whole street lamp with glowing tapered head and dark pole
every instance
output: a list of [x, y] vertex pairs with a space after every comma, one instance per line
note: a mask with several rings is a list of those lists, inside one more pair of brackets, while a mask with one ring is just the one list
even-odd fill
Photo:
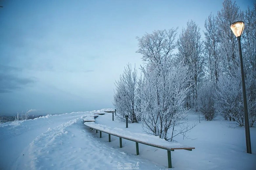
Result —
[[241, 64], [243, 97], [244, 97], [246, 150], [247, 150], [247, 153], [251, 154], [251, 137], [250, 137], [250, 127], [249, 127], [246, 91], [245, 91], [244, 65], [243, 65], [242, 49], [241, 49], [241, 35], [244, 31], [244, 27], [245, 27], [245, 23], [243, 21], [237, 21], [237, 22], [234, 22], [230, 25], [230, 28], [231, 28], [232, 32], [235, 34], [235, 36], [237, 37], [237, 40], [238, 40], [239, 56], [240, 56], [240, 64]]

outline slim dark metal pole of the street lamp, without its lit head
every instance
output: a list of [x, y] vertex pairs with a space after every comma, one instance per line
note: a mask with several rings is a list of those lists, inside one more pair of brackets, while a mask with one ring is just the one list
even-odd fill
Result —
[[247, 153], [251, 154], [251, 137], [250, 137], [250, 127], [249, 127], [246, 91], [245, 91], [245, 75], [244, 75], [244, 65], [243, 65], [242, 49], [241, 49], [241, 36], [237, 37], [237, 40], [238, 40], [238, 47], [239, 47], [239, 56], [240, 56], [240, 64], [241, 64], [241, 77], [242, 77], [242, 87], [243, 87], [243, 97], [244, 97], [246, 150], [247, 150]]

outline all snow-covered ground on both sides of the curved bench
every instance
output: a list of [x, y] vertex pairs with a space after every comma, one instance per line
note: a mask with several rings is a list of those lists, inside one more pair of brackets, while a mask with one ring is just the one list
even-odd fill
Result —
[[[0, 125], [0, 169], [120, 169], [132, 163], [139, 169], [167, 168], [167, 151], [124, 140], [90, 130], [83, 124], [86, 115], [104, 112], [102, 109], [48, 115], [33, 120], [16, 121]], [[190, 122], [198, 120], [190, 112]], [[112, 113], [99, 115], [95, 123], [117, 127], [125, 131], [143, 133], [141, 124], [112, 121]], [[252, 154], [246, 153], [245, 129], [231, 128], [229, 121], [217, 118], [201, 121], [188, 139], [175, 138], [180, 144], [195, 147], [192, 151], [175, 150], [172, 153], [173, 169], [256, 169], [256, 128], [250, 128]], [[127, 132], [128, 133], [128, 132]]]

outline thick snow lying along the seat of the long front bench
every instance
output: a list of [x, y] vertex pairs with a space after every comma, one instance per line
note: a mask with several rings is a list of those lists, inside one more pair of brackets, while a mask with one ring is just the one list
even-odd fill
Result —
[[164, 139], [160, 139], [159, 136], [148, 135], [144, 133], [134, 133], [121, 128], [112, 128], [101, 124], [96, 124], [94, 122], [85, 122], [84, 125], [91, 127], [93, 129], [123, 138], [131, 141], [135, 141], [141, 144], [151, 145], [154, 147], [159, 147], [166, 150], [175, 150], [175, 149], [185, 149], [191, 150], [195, 147], [185, 146], [179, 143], [168, 142]]

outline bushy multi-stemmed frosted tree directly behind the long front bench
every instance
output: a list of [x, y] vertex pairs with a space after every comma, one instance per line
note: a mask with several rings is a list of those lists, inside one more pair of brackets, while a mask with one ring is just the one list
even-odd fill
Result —
[[149, 134], [172, 141], [174, 136], [193, 127], [186, 124], [187, 108], [183, 107], [189, 89], [186, 86], [188, 67], [175, 66], [170, 60], [153, 65], [150, 69], [141, 67], [144, 75], [143, 84], [139, 85], [142, 127]]

